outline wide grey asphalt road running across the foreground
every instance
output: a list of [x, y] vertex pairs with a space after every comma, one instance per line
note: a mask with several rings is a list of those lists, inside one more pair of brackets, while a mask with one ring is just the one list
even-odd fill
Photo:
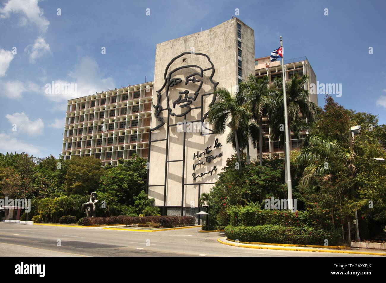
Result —
[[217, 241], [222, 232], [199, 229], [146, 233], [0, 223], [0, 256], [362, 256], [227, 246]]

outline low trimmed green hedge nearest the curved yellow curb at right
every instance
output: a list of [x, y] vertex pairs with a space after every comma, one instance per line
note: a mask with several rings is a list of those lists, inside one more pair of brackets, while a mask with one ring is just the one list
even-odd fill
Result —
[[259, 225], [259, 226], [232, 226], [225, 227], [228, 239], [240, 242], [260, 242], [275, 244], [312, 244], [324, 245], [325, 239], [328, 244], [339, 242], [340, 234], [324, 231], [322, 229], [308, 226], [286, 227], [283, 225]]

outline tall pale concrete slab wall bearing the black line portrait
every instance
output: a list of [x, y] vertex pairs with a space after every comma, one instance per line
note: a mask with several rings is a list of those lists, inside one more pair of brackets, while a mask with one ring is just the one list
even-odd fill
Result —
[[[188, 122], [200, 120], [201, 116], [205, 116], [209, 104], [214, 102], [215, 97], [212, 93], [215, 84], [218, 83], [217, 87], [225, 87], [231, 92], [236, 90], [238, 84], [237, 22], [240, 22], [240, 20], [233, 18], [209, 30], [169, 40], [156, 46], [153, 104], [157, 105], [157, 102], [159, 102], [159, 109], [163, 109], [159, 113], [159, 119], [165, 122], [163, 126], [151, 133], [148, 194], [149, 197], [155, 199], [156, 206], [164, 205], [166, 172], [165, 205], [173, 206], [174, 208], [171, 208], [173, 211], [176, 210], [175, 207], [181, 207], [181, 204], [185, 208], [198, 207], [198, 184], [201, 184], [200, 193], [208, 192], [213, 186], [211, 183], [217, 181], [218, 173], [225, 166], [227, 158], [235, 153], [232, 146], [226, 144], [226, 136], [229, 129], [223, 135], [208, 134], [210, 131], [204, 131], [204, 134], [201, 135], [200, 132], [184, 133], [183, 126], [171, 126], [169, 127], [168, 136], [167, 125], [183, 123], [185, 115], [176, 117], [185, 114], [187, 109], [186, 107], [179, 107], [179, 105], [185, 104], [185, 102], [178, 103], [179, 92], [188, 90], [188, 95], [194, 97], [196, 90], [199, 88], [200, 81], [202, 81], [202, 87], [196, 99], [190, 99], [190, 107], [199, 108], [192, 109], [186, 114], [186, 121]], [[242, 25], [242, 79], [246, 79], [249, 74], [254, 73], [254, 31], [244, 23], [240, 23]], [[194, 54], [183, 54], [172, 62], [175, 57], [178, 57], [183, 52], [194, 52]], [[208, 57], [200, 54], [206, 54]], [[184, 58], [185, 60], [183, 61]], [[208, 59], [213, 63], [214, 74]], [[170, 64], [169, 67], [168, 64]], [[200, 66], [203, 70], [207, 70], [203, 71], [201, 76], [201, 70], [193, 66]], [[167, 77], [166, 84], [165, 75]], [[189, 77], [189, 75], [192, 76]], [[213, 75], [212, 80], [210, 78], [211, 75]], [[198, 81], [189, 81], [189, 78], [192, 79], [193, 77]], [[169, 84], [171, 80], [175, 83], [179, 80], [181, 82], [173, 86]], [[168, 89], [169, 91], [167, 91]], [[166, 97], [166, 93], [168, 93], [169, 99]], [[160, 96], [158, 97], [157, 95]], [[183, 99], [185, 93], [182, 93], [181, 97]], [[203, 111], [201, 111], [201, 99]], [[176, 104], [173, 105], [173, 102]], [[168, 118], [168, 105], [170, 112], [176, 116], [169, 115]], [[160, 124], [160, 121], [155, 116], [155, 112], [157, 111], [153, 111], [152, 115], [152, 128]], [[156, 141], [166, 139], [167, 136], [168, 144], [166, 144], [166, 141]], [[216, 139], [221, 143], [221, 147], [214, 148]], [[193, 158], [197, 152], [205, 152], [207, 147], [208, 151], [212, 150], [210, 153], [203, 154], [200, 158]], [[185, 163], [182, 161], [169, 162], [165, 167], [166, 151], [168, 151], [167, 157], [169, 161], [181, 160], [185, 157]], [[222, 154], [222, 156], [210, 162], [205, 160], [205, 156], [217, 156], [219, 154]], [[193, 165], [199, 162], [203, 162], [203, 164], [197, 165], [193, 170]], [[195, 180], [193, 179], [193, 173], [197, 176], [211, 170], [213, 170], [212, 175], [205, 174]], [[183, 183], [188, 185], [183, 186]], [[189, 209], [185, 209], [185, 211], [187, 210]]]

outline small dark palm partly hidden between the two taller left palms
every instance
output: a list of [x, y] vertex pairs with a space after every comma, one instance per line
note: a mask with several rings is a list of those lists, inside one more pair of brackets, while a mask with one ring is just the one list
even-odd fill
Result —
[[[247, 164], [251, 164], [251, 157], [249, 154], [249, 141], [252, 141], [252, 147], [257, 148], [259, 140], [259, 127], [256, 122], [249, 118], [244, 118], [240, 122], [239, 129], [237, 129], [237, 137], [239, 140], [239, 149], [244, 151], [247, 149]], [[227, 136], [227, 143], [231, 143], [232, 147], [236, 149], [235, 133], [230, 131]]]

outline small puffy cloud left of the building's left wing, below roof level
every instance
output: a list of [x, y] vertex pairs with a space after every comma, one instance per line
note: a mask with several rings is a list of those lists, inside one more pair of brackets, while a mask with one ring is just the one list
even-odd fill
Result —
[[16, 132], [25, 132], [30, 136], [38, 136], [43, 134], [44, 123], [42, 119], [38, 118], [35, 121], [30, 121], [24, 112], [7, 114], [5, 118], [13, 125], [16, 124]]

